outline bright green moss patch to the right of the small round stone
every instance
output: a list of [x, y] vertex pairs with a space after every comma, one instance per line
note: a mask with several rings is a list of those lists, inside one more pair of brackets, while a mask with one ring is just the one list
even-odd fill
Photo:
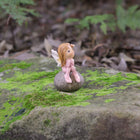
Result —
[[117, 93], [118, 91], [121, 92], [129, 85], [140, 83], [140, 77], [134, 73], [123, 74], [118, 72], [117, 74], [110, 75], [103, 71], [99, 72], [96, 70], [93, 72], [91, 70], [87, 70], [84, 77], [87, 77], [86, 81], [89, 85], [93, 85], [93, 92], [96, 93], [96, 96], [105, 96]]

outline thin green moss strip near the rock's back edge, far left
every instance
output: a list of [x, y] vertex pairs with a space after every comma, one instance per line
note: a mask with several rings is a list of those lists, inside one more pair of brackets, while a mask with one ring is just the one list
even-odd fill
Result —
[[[3, 63], [3, 61], [1, 63]], [[26, 63], [25, 61], [21, 61], [19, 63], [5, 64], [4, 66], [0, 67], [0, 72], [11, 70], [13, 68], [25, 69], [30, 67], [31, 65], [32, 63]]]

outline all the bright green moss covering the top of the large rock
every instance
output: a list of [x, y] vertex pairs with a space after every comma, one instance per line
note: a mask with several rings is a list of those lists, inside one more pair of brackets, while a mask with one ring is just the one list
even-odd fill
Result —
[[[90, 104], [94, 96], [106, 96], [126, 89], [129, 85], [140, 83], [136, 74], [117, 73], [107, 74], [103, 71], [86, 70], [82, 75], [85, 78], [83, 88], [73, 93], [57, 91], [53, 86], [55, 75], [60, 69], [52, 72], [39, 69], [29, 71], [34, 65], [24, 61], [4, 64], [0, 61], [0, 72], [5, 73], [0, 81], [0, 131], [8, 129], [9, 125], [22, 116], [27, 115], [36, 106], [85, 106]], [[14, 70], [20, 68], [20, 70]], [[9, 75], [7, 70], [13, 73]], [[24, 71], [27, 69], [27, 71]], [[125, 81], [125, 84], [118, 84]], [[117, 85], [117, 86], [116, 86]], [[6, 98], [5, 98], [6, 97]], [[105, 103], [115, 99], [105, 99]], [[46, 125], [49, 125], [46, 121]]]

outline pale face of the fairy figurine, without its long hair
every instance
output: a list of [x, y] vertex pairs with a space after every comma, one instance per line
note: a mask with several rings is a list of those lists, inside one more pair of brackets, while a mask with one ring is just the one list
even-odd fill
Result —
[[71, 59], [74, 57], [74, 50], [73, 50], [73, 46], [71, 44], [68, 43], [67, 50], [65, 53], [66, 53], [65, 54], [66, 59]]

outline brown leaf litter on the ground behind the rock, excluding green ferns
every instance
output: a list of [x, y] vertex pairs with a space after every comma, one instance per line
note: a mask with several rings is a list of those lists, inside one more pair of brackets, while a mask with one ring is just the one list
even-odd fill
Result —
[[[139, 4], [136, 2], [128, 1], [125, 6]], [[37, 2], [35, 9], [40, 17], [32, 17], [22, 26], [12, 19], [7, 24], [7, 18], [0, 18], [0, 59], [50, 57], [50, 49], [57, 50], [60, 43], [70, 42], [76, 45], [75, 62], [78, 65], [140, 73], [140, 30], [128, 28], [126, 33], [119, 29], [108, 30], [105, 35], [100, 25], [81, 30], [74, 24], [65, 23], [68, 18], [115, 14], [116, 5], [111, 0], [42, 0]]]

